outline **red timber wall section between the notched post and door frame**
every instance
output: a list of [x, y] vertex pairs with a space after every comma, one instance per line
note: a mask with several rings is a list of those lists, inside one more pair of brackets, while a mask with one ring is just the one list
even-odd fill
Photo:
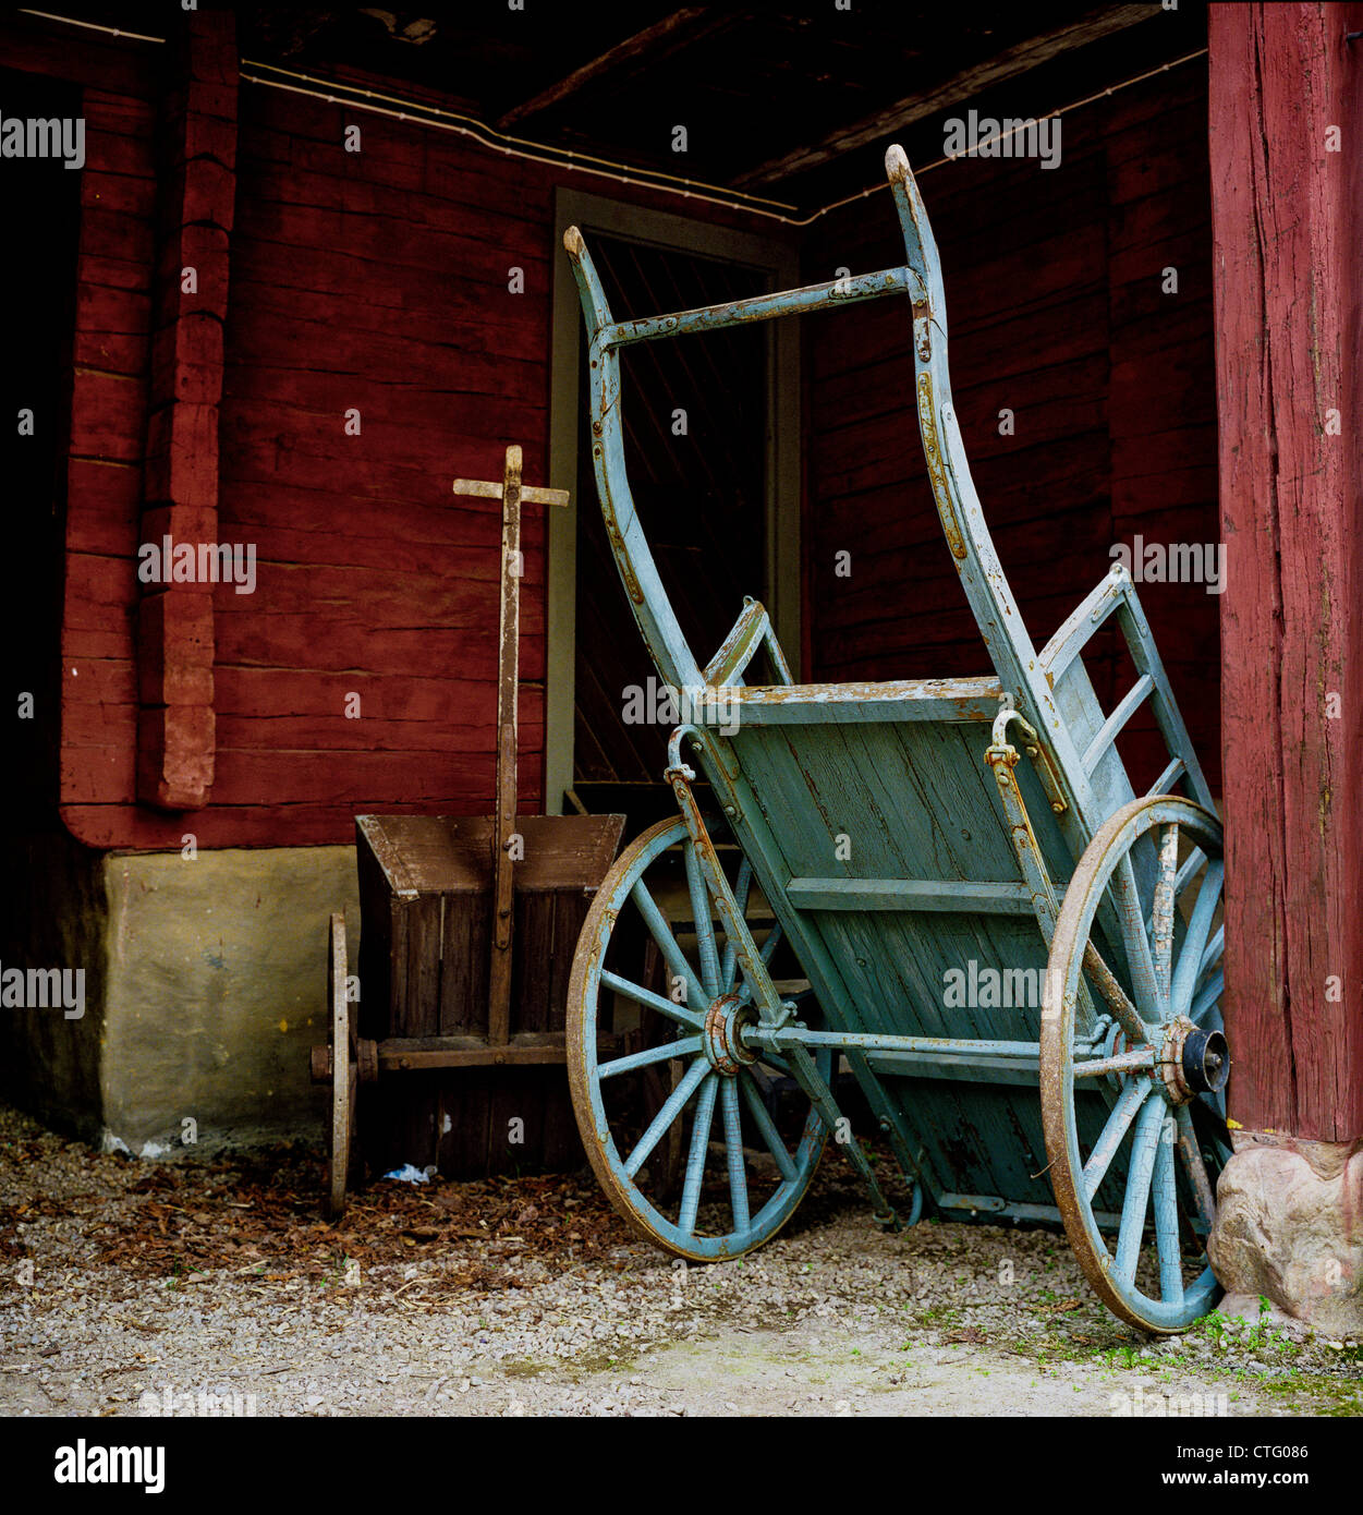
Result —
[[[295, 839], [395, 800], [486, 811], [500, 514], [450, 485], [500, 479], [507, 442], [545, 476], [548, 180], [448, 133], [242, 98], [223, 518], [264, 567], [256, 595], [218, 601], [214, 804], [286, 806]], [[538, 806], [544, 512], [526, 517], [519, 777]]]

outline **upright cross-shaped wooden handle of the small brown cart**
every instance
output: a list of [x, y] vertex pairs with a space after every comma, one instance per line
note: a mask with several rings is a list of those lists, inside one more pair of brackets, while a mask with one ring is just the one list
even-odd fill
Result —
[[507, 447], [501, 483], [456, 479], [454, 494], [501, 500], [501, 623], [497, 654], [497, 809], [492, 817], [492, 961], [488, 976], [488, 1041], [510, 1041], [512, 859], [516, 829], [516, 674], [521, 651], [521, 501], [566, 504], [566, 489], [521, 483], [521, 448]]

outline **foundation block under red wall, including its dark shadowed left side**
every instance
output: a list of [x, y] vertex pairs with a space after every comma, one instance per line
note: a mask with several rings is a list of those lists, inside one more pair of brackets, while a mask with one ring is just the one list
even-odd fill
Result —
[[79, 1018], [0, 1015], [0, 1092], [138, 1157], [321, 1141], [327, 918], [356, 971], [353, 847], [97, 853], [62, 833], [9, 844], [0, 962], [83, 974]]

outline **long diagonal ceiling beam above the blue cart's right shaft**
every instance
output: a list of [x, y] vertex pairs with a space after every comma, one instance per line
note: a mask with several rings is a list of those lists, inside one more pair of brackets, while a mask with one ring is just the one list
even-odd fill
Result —
[[748, 168], [730, 180], [730, 183], [735, 189], [757, 189], [763, 185], [772, 185], [780, 179], [788, 179], [791, 174], [818, 168], [853, 148], [865, 147], [868, 142], [913, 126], [915, 121], [936, 115], [937, 111], [947, 111], [963, 100], [969, 100], [990, 85], [1016, 79], [1019, 74], [1025, 74], [1040, 64], [1050, 62], [1057, 53], [1101, 41], [1104, 36], [1112, 36], [1115, 32], [1122, 32], [1137, 21], [1146, 21], [1152, 15], [1160, 14], [1162, 8], [1154, 3], [1104, 6], [1099, 11], [1090, 11], [1087, 15], [1081, 15], [1077, 21], [1069, 21], [1066, 26], [1042, 32], [1037, 36], [1028, 36], [1022, 42], [1015, 42], [993, 58], [972, 64], [943, 83], [934, 85], [927, 92], [906, 95], [903, 100], [897, 100], [874, 115], [863, 117], [851, 126], [842, 126], [825, 136], [822, 142], [792, 148], [780, 158], [772, 158], [756, 168]]

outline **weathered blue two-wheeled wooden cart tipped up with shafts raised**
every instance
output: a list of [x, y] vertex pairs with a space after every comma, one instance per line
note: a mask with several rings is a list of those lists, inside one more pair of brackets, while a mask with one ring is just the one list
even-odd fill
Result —
[[[616, 320], [565, 236], [606, 532], [685, 712], [665, 773], [680, 815], [621, 854], [577, 948], [579, 1126], [616, 1207], [683, 1257], [777, 1232], [833, 1132], [883, 1226], [924, 1198], [948, 1218], [1062, 1220], [1112, 1310], [1177, 1330], [1218, 1297], [1221, 823], [1124, 568], [1033, 645], [951, 405], [936, 242], [901, 148], [886, 168], [904, 264], [825, 285]], [[621, 348], [887, 295], [909, 301], [927, 473], [992, 673], [797, 685], [751, 600], [701, 664], [630, 497]], [[1083, 654], [1113, 617], [1136, 676], [1104, 712]], [[759, 654], [771, 679], [745, 682]], [[1169, 761], [1136, 794], [1115, 739], [1146, 700]], [[812, 994], [777, 977], [778, 951]], [[904, 1217], [837, 1107], [847, 1070], [912, 1185]]]

